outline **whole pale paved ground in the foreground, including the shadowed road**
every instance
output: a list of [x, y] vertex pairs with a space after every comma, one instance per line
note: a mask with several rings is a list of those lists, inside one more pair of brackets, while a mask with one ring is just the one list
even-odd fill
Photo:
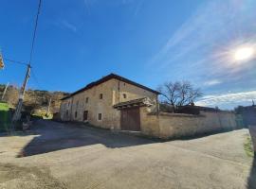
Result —
[[[0, 188], [256, 188], [247, 129], [159, 142], [39, 121], [0, 136]], [[254, 163], [254, 168], [253, 168]]]

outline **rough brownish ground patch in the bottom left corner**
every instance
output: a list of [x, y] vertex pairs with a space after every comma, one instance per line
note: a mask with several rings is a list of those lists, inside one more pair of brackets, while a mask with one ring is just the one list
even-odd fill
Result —
[[6, 188], [64, 189], [66, 186], [54, 179], [49, 170], [0, 163], [0, 189]]

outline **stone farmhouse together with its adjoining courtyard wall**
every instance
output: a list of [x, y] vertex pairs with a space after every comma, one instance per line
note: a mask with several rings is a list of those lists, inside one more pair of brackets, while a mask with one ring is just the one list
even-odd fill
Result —
[[64, 97], [61, 119], [88, 122], [104, 129], [135, 130], [163, 139], [236, 129], [233, 112], [205, 109], [197, 114], [159, 112], [158, 94], [110, 74]]

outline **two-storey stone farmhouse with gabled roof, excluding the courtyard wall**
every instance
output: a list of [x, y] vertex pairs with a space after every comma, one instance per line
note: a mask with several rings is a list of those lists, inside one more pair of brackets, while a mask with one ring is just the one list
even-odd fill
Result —
[[62, 99], [63, 121], [88, 122], [105, 129], [140, 130], [139, 107], [157, 112], [153, 89], [110, 74]]

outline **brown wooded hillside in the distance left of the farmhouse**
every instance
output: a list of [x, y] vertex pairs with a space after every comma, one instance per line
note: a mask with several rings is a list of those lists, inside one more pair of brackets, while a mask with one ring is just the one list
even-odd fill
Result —
[[[4, 89], [5, 85], [0, 84], [0, 97], [2, 97]], [[14, 108], [17, 104], [18, 95], [19, 89], [10, 85], [4, 97], [4, 101], [7, 101], [9, 106]], [[28, 112], [46, 112], [48, 101], [51, 98], [50, 112], [59, 112], [61, 99], [66, 95], [68, 95], [68, 93], [28, 89], [24, 98], [24, 109]]]

